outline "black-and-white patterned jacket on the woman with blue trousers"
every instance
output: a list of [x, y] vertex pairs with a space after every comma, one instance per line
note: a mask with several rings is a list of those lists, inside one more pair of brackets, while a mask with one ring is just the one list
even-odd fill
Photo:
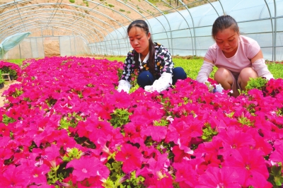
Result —
[[[158, 79], [160, 78], [161, 74], [163, 74], [163, 72], [172, 74], [172, 69], [174, 67], [174, 64], [172, 61], [171, 54], [168, 51], [168, 49], [166, 49], [166, 47], [158, 43], [155, 43], [155, 42], [154, 42], [154, 45], [155, 45], [155, 57], [154, 57], [155, 74], [154, 76], [156, 79]], [[134, 49], [128, 52], [127, 58], [124, 63], [124, 71], [122, 73], [121, 80], [131, 82], [131, 77], [132, 77], [132, 74], [134, 74], [134, 65], [135, 65], [134, 54], [136, 53], [137, 52], [134, 51]], [[141, 74], [142, 71], [149, 70], [149, 67], [146, 66], [147, 62], [148, 61], [143, 62], [142, 64], [141, 62], [139, 62], [139, 69], [137, 70], [138, 74]]]

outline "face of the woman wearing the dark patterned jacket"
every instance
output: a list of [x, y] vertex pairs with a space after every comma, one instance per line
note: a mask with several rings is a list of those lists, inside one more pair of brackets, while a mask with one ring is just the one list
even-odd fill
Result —
[[128, 33], [129, 42], [136, 52], [146, 56], [149, 52], [149, 38], [151, 34], [146, 35], [144, 30], [139, 27], [132, 27]]

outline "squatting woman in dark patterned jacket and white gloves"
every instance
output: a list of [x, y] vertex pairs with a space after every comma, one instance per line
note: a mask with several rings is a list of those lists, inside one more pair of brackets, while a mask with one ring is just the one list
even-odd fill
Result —
[[118, 91], [129, 93], [134, 75], [137, 75], [141, 88], [158, 92], [174, 85], [178, 79], [187, 78], [183, 68], [174, 68], [168, 49], [151, 40], [149, 26], [144, 20], [134, 20], [127, 28], [127, 34], [133, 49], [127, 54]]

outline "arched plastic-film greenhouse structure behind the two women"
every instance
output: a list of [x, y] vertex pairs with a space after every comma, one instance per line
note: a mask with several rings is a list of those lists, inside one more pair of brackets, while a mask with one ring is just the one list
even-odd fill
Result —
[[[3, 1], [2, 1], [3, 2]], [[277, 1], [6, 1], [0, 5], [0, 41], [30, 32], [5, 59], [49, 55], [125, 56], [131, 49], [127, 25], [143, 19], [154, 41], [173, 55], [204, 56], [213, 44], [212, 23], [236, 19], [242, 35], [257, 40], [265, 59], [283, 59], [283, 2]]]

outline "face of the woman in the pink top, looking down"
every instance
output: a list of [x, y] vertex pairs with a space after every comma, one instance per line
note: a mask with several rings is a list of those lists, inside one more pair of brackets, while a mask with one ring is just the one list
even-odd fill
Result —
[[232, 57], [236, 54], [238, 49], [239, 35], [231, 28], [220, 30], [215, 36], [214, 40], [225, 56]]

